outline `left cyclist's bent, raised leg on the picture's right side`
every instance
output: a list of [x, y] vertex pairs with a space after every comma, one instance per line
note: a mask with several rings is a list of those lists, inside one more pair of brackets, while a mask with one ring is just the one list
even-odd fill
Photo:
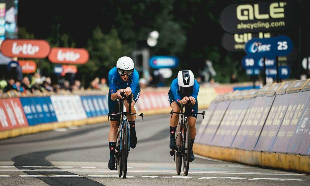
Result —
[[[136, 91], [133, 93], [133, 100], [131, 102], [131, 113], [137, 113], [135, 110], [135, 103], [139, 99], [140, 96], [140, 87], [137, 87]], [[127, 100], [125, 100], [125, 107], [126, 111], [129, 110], [129, 104]], [[129, 134], [130, 134], [130, 147], [135, 148], [137, 145], [137, 135], [135, 131], [135, 118], [136, 116], [133, 115], [127, 115], [127, 120], [129, 122], [130, 128], [129, 128]]]

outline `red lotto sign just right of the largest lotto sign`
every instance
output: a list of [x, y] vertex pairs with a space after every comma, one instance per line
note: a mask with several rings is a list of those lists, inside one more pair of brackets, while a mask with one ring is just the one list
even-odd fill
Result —
[[85, 64], [89, 59], [84, 48], [52, 48], [48, 59], [52, 63]]

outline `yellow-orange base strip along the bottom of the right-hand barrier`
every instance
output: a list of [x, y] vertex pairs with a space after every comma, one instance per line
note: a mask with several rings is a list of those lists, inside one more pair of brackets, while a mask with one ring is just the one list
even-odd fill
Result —
[[194, 153], [227, 162], [310, 173], [310, 157], [194, 144]]

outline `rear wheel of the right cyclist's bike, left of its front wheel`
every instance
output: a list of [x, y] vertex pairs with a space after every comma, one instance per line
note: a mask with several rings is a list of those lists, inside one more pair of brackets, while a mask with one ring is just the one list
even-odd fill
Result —
[[180, 175], [181, 168], [182, 168], [182, 154], [181, 147], [182, 147], [182, 132], [181, 132], [181, 123], [178, 123], [176, 130], [175, 130], [175, 143], [177, 146], [177, 150], [175, 152], [175, 167], [176, 167], [176, 173]]

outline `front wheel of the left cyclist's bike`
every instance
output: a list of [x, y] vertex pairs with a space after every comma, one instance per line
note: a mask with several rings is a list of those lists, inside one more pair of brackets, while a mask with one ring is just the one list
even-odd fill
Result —
[[127, 175], [127, 158], [128, 158], [128, 125], [124, 123], [122, 129], [122, 165], [123, 165], [123, 178]]

